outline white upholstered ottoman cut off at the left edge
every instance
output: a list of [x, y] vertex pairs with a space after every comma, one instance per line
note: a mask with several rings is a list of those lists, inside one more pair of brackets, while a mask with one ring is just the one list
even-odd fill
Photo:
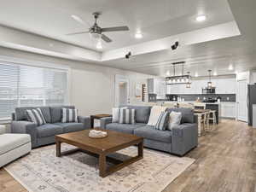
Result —
[[31, 151], [31, 137], [27, 134], [0, 135], [0, 167]]

